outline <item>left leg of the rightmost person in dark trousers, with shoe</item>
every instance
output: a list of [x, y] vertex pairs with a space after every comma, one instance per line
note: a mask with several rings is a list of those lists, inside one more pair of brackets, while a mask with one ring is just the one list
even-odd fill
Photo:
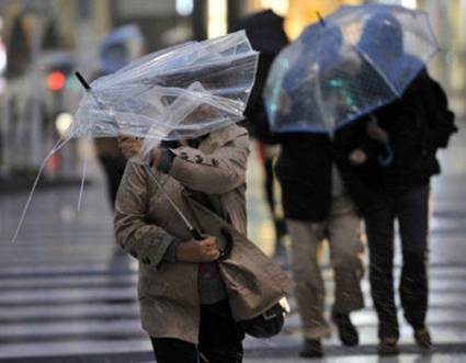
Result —
[[370, 248], [370, 282], [378, 317], [380, 354], [396, 354], [399, 326], [394, 291], [395, 198], [372, 191], [371, 208], [365, 215]]

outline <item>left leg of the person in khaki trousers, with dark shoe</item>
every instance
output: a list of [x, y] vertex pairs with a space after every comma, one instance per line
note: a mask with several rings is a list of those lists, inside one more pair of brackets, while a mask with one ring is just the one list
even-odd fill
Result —
[[296, 283], [296, 300], [305, 339], [303, 356], [321, 356], [320, 340], [330, 337], [330, 328], [323, 318], [325, 288], [319, 262], [318, 246], [326, 223], [287, 220], [292, 238], [293, 274]]

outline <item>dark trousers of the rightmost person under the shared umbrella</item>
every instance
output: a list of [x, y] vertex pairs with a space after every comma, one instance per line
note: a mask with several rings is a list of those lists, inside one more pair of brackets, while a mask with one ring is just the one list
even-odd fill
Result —
[[365, 224], [370, 247], [370, 280], [378, 316], [379, 338], [398, 338], [394, 292], [394, 224], [398, 219], [402, 270], [399, 285], [407, 321], [419, 329], [428, 309], [429, 184], [400, 193], [371, 191], [372, 205]]

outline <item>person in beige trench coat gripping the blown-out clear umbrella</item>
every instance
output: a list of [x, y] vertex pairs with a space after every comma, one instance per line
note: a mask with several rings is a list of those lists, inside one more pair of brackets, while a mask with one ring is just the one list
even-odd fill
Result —
[[[162, 144], [152, 151], [152, 172], [193, 220], [186, 190], [206, 198], [236, 236], [245, 236], [248, 144], [247, 131], [237, 125], [178, 145]], [[130, 158], [140, 141], [123, 138], [121, 147]], [[257, 315], [250, 307], [264, 295], [260, 286], [266, 284], [261, 279], [272, 276], [283, 294], [286, 276], [262, 259], [258, 268], [264, 274], [258, 276], [259, 283], [234, 287], [247, 302], [236, 304], [224, 283], [223, 263], [215, 262], [223, 252], [220, 240], [213, 236], [193, 240], [147, 169], [134, 162], [128, 162], [117, 194], [115, 230], [122, 248], [139, 260], [140, 316], [157, 361], [241, 362], [243, 333], [235, 320]], [[230, 265], [239, 269], [243, 251], [250, 248], [245, 240], [235, 240], [242, 247], [229, 258]]]

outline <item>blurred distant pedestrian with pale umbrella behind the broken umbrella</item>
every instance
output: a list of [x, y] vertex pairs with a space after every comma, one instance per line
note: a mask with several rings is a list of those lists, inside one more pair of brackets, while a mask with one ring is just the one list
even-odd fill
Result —
[[[106, 35], [100, 46], [100, 69], [94, 78], [111, 75], [129, 61], [140, 57], [144, 49], [143, 34], [136, 24], [121, 26]], [[109, 198], [114, 208], [116, 192], [125, 171], [126, 158], [120, 151], [114, 137], [95, 138], [95, 151], [105, 172]]]

